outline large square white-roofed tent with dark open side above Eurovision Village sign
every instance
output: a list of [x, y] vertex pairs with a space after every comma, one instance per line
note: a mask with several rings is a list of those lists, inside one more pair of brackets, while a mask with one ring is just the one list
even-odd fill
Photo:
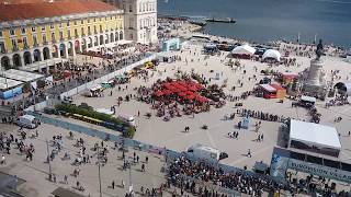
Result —
[[288, 147], [339, 157], [341, 143], [335, 127], [291, 120]]

